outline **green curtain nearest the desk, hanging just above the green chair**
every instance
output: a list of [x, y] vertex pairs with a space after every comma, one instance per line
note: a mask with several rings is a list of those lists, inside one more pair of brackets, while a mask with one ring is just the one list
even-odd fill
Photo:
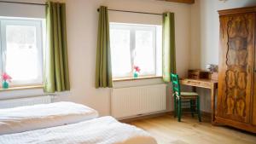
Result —
[[176, 73], [174, 13], [163, 14], [163, 80], [170, 82], [170, 73]]

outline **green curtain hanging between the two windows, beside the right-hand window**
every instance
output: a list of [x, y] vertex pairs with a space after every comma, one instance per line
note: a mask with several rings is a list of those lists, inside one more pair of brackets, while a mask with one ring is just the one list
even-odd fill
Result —
[[101, 6], [96, 48], [96, 88], [107, 87], [112, 88], [108, 8]]

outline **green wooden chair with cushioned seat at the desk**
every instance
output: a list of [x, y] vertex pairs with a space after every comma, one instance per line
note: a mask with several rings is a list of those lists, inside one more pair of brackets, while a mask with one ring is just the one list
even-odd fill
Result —
[[177, 116], [177, 121], [181, 121], [182, 103], [189, 102], [192, 117], [194, 117], [194, 113], [197, 113], [198, 120], [201, 122], [200, 96], [195, 92], [181, 92], [177, 74], [171, 73], [171, 81], [174, 98], [174, 116]]

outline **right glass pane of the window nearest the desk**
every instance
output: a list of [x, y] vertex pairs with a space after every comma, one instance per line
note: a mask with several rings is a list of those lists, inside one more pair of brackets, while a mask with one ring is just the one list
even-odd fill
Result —
[[141, 75], [154, 74], [153, 31], [136, 31], [134, 65], [141, 68]]

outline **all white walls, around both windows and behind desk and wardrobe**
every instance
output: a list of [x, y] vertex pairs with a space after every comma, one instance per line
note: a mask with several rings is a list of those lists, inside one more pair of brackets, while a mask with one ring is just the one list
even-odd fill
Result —
[[[17, 0], [44, 3], [44, 0]], [[218, 64], [218, 10], [256, 5], [255, 0], [195, 0], [195, 4], [166, 3], [154, 0], [67, 0], [67, 43], [71, 91], [58, 94], [57, 101], [75, 101], [96, 108], [102, 115], [110, 111], [110, 89], [95, 89], [96, 32], [100, 5], [123, 9], [176, 14], [177, 72], [186, 76], [189, 68]], [[114, 13], [114, 12], [112, 12]], [[44, 17], [44, 7], [0, 3], [1, 16]], [[110, 20], [139, 20], [131, 15], [114, 15]], [[120, 17], [122, 16], [122, 18]], [[125, 19], [124, 19], [125, 17]], [[145, 17], [142, 16], [142, 19]], [[150, 19], [144, 19], [145, 21]], [[116, 87], [161, 84], [160, 79], [114, 84]], [[209, 90], [199, 89], [201, 109], [211, 111]], [[42, 89], [1, 92], [0, 99], [42, 95]], [[171, 107], [171, 105], [168, 105]]]

